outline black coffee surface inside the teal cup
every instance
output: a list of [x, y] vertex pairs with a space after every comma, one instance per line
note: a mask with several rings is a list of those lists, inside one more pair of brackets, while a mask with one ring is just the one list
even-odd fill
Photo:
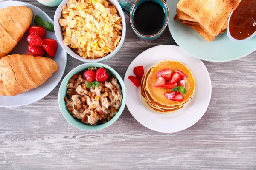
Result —
[[134, 26], [141, 34], [156, 34], [163, 27], [164, 21], [164, 10], [158, 3], [148, 0], [135, 9]]

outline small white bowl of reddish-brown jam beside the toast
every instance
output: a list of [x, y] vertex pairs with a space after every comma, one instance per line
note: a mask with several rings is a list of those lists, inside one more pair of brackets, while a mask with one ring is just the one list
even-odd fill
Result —
[[228, 18], [227, 36], [233, 41], [246, 41], [256, 35], [256, 0], [241, 0]]

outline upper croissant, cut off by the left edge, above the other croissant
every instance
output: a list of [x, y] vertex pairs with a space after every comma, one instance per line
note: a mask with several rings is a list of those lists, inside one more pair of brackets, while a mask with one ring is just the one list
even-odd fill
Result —
[[33, 20], [33, 12], [26, 6], [0, 9], [0, 58], [17, 45]]

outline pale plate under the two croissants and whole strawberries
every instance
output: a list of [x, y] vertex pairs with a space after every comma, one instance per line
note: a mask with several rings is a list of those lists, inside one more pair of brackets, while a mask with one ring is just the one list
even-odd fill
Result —
[[[46, 13], [44, 13], [44, 11], [42, 11], [38, 7], [33, 6], [29, 3], [24, 3], [20, 1], [0, 2], [0, 9], [6, 8], [7, 6], [27, 6], [33, 11], [34, 17], [35, 15], [39, 15], [41, 18], [43, 18], [43, 20], [47, 20], [53, 23], [52, 19]], [[34, 17], [33, 17], [33, 20], [34, 20]], [[32, 25], [35, 25], [34, 22], [32, 22], [31, 26]], [[24, 34], [20, 42], [18, 42], [18, 44], [15, 46], [15, 48], [13, 48], [13, 50], [9, 54], [28, 54], [28, 49], [27, 49], [28, 42], [26, 41], [27, 36], [28, 36], [28, 33], [26, 32], [26, 34]], [[54, 32], [47, 31], [46, 38], [57, 40]], [[11, 107], [24, 106], [24, 105], [37, 102], [38, 100], [47, 96], [58, 85], [66, 68], [67, 53], [61, 48], [61, 45], [59, 44], [58, 44], [56, 56], [53, 58], [53, 60], [55, 60], [58, 63], [59, 68], [57, 72], [52, 74], [52, 77], [47, 79], [47, 81], [44, 84], [40, 85], [38, 88], [34, 88], [23, 94], [12, 96], [12, 97], [0, 96], [0, 107], [11, 108]]]

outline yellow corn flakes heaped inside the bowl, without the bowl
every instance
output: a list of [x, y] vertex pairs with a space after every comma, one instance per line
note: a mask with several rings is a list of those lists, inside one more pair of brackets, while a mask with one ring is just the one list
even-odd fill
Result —
[[108, 1], [69, 0], [61, 14], [63, 43], [81, 57], [105, 57], [119, 44], [122, 18]]

